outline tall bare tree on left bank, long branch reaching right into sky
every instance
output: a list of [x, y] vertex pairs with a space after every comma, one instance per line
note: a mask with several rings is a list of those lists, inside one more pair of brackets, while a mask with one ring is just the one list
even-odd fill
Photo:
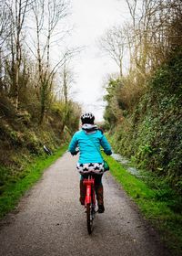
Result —
[[71, 51], [68, 50], [64, 56], [60, 54], [60, 59], [56, 61], [55, 66], [50, 63], [52, 38], [57, 32], [60, 22], [68, 14], [68, 2], [65, 0], [38, 0], [33, 5], [33, 13], [36, 27], [36, 53], [34, 55], [38, 68], [35, 87], [40, 98], [40, 123], [42, 123], [45, 115], [45, 104], [48, 94], [51, 92], [56, 71], [60, 65], [63, 65], [65, 57], [71, 54]]

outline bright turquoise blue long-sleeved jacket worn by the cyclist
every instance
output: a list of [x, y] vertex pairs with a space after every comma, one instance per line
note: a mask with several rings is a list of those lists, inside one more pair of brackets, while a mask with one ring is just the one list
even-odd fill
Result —
[[81, 130], [74, 134], [68, 151], [71, 154], [76, 153], [76, 147], [79, 147], [79, 164], [88, 163], [103, 163], [103, 158], [100, 155], [100, 145], [104, 148], [106, 155], [111, 155], [111, 146], [106, 140], [106, 136], [99, 130], [94, 133], [86, 133]]

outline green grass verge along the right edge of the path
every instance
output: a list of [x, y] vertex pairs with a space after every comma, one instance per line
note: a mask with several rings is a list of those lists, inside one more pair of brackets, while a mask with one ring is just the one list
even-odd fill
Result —
[[145, 219], [159, 231], [171, 255], [182, 255], [182, 215], [181, 208], [177, 209], [177, 206], [182, 206], [181, 197], [179, 199], [164, 183], [157, 184], [157, 179], [153, 178], [153, 182], [150, 180], [147, 184], [147, 180], [132, 176], [112, 157], [104, 157], [110, 166], [111, 174], [133, 198]]

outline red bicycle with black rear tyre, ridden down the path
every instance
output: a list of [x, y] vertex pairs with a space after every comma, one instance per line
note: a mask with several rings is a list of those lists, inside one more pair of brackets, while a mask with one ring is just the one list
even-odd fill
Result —
[[86, 197], [85, 197], [85, 207], [86, 207], [86, 224], [87, 231], [90, 235], [93, 231], [94, 219], [96, 216], [96, 193], [95, 193], [95, 179], [92, 173], [84, 179], [84, 185], [86, 186]]

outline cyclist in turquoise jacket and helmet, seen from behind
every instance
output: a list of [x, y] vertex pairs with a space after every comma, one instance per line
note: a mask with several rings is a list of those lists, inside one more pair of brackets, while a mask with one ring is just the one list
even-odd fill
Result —
[[104, 161], [100, 153], [100, 146], [104, 148], [106, 155], [111, 155], [111, 146], [106, 140], [106, 136], [94, 123], [95, 116], [91, 112], [86, 112], [81, 116], [82, 129], [76, 132], [69, 144], [68, 151], [76, 155], [76, 147], [79, 147], [79, 160], [76, 165], [80, 178], [80, 202], [85, 204], [86, 189], [83, 184], [84, 178], [92, 171], [95, 178], [96, 199], [98, 212], [105, 211], [103, 198], [102, 176], [104, 173]]

